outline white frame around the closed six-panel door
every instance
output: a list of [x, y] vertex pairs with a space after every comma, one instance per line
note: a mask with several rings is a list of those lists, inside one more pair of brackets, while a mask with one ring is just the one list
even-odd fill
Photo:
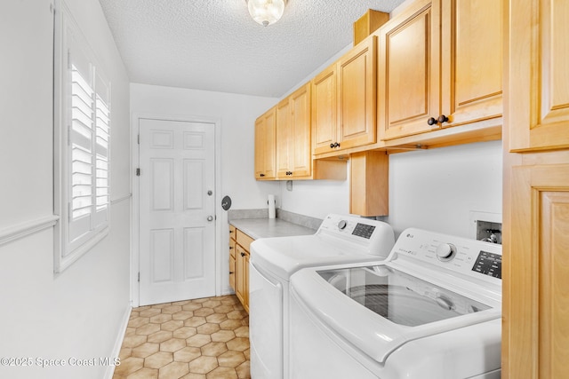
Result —
[[139, 227], [140, 227], [140, 191], [139, 177], [136, 176], [136, 169], [140, 167], [140, 145], [138, 136], [140, 133], [140, 119], [164, 120], [178, 122], [205, 122], [212, 123], [214, 128], [215, 154], [214, 154], [214, 170], [215, 170], [215, 296], [221, 295], [221, 120], [219, 118], [196, 116], [191, 114], [132, 114], [131, 129], [131, 193], [132, 193], [132, 219], [131, 219], [131, 305], [138, 307], [140, 305], [140, 245], [139, 245]]

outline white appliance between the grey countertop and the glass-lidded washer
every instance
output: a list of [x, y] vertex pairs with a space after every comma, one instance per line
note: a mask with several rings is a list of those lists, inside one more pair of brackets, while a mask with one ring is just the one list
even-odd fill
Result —
[[289, 280], [304, 267], [368, 262], [389, 255], [395, 237], [386, 223], [331, 214], [313, 235], [251, 244], [249, 336], [253, 379], [289, 378]]

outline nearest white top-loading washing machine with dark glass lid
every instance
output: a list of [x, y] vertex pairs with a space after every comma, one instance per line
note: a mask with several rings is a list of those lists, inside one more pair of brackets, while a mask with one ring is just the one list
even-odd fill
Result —
[[377, 263], [291, 277], [295, 379], [497, 379], [501, 245], [407, 229]]

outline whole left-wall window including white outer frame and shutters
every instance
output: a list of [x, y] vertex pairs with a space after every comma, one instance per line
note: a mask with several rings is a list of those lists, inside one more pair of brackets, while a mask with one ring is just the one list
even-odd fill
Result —
[[54, 34], [55, 272], [108, 234], [110, 202], [110, 83], [62, 5]]

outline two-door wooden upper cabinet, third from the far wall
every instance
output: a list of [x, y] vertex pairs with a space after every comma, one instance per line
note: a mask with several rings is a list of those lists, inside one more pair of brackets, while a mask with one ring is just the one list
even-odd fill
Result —
[[376, 48], [370, 36], [312, 80], [314, 154], [376, 141]]

